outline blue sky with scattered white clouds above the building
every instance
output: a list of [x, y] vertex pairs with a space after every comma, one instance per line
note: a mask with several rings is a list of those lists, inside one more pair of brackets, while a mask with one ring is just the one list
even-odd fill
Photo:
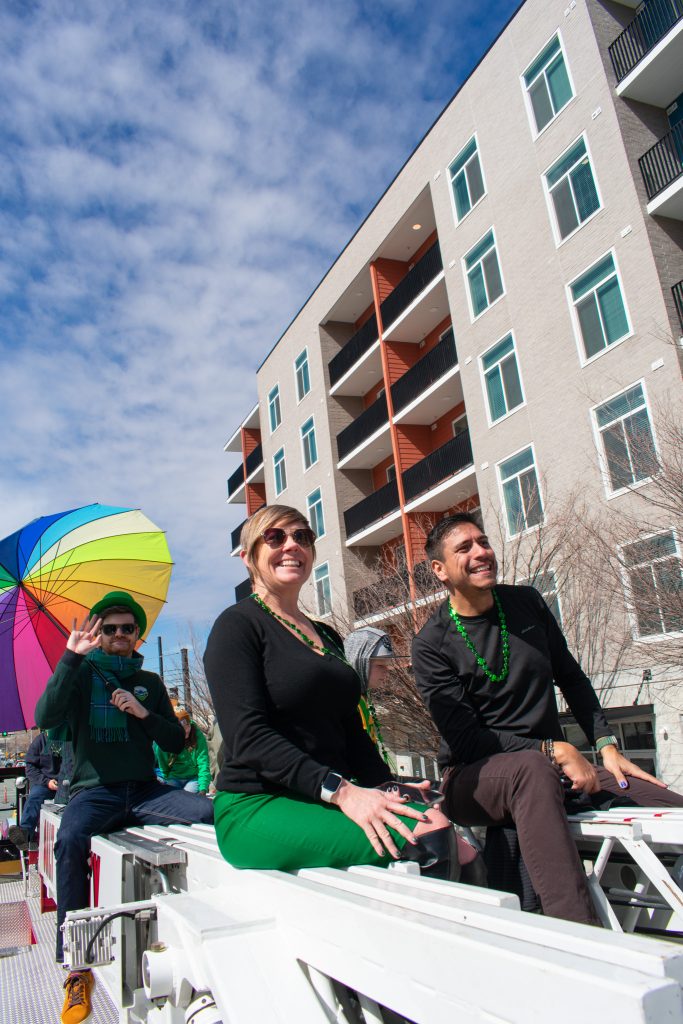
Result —
[[254, 372], [516, 6], [5, 0], [0, 537], [139, 507], [206, 632]]

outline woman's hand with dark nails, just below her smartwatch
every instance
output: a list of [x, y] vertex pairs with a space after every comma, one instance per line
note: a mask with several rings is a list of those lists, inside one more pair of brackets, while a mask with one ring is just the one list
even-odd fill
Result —
[[397, 814], [402, 814], [403, 817], [408, 818], [416, 818], [418, 821], [429, 820], [427, 815], [421, 811], [407, 807], [407, 801], [402, 797], [394, 796], [391, 793], [382, 793], [381, 790], [366, 790], [364, 786], [353, 785], [352, 782], [346, 780], [342, 782], [333, 796], [332, 803], [336, 804], [347, 818], [362, 828], [373, 850], [380, 857], [386, 856], [387, 852], [394, 859], [400, 857], [400, 852], [391, 838], [389, 827], [407, 839], [409, 843], [415, 844], [417, 842], [408, 825], [404, 825], [400, 818], [396, 817]]

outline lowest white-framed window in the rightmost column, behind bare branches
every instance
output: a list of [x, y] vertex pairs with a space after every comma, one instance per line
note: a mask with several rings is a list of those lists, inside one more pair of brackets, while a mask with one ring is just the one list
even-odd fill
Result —
[[627, 590], [638, 637], [683, 631], [683, 563], [673, 529], [622, 548]]

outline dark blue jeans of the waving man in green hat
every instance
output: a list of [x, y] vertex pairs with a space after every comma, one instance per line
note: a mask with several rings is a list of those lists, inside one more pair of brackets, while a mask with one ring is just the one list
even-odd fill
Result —
[[54, 857], [57, 871], [56, 958], [63, 959], [61, 925], [68, 910], [89, 904], [90, 837], [130, 825], [213, 822], [206, 797], [153, 782], [120, 782], [81, 790], [61, 815]]

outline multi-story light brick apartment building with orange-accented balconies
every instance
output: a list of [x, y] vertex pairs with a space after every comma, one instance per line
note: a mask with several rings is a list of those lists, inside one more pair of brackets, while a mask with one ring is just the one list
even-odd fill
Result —
[[[551, 489], [626, 508], [656, 469], [653, 410], [681, 409], [682, 243], [682, 0], [526, 0], [258, 369], [228, 502], [305, 510], [311, 610], [389, 623], [378, 559], [416, 598], [449, 511], [498, 509], [510, 543]], [[623, 559], [653, 644], [681, 629], [679, 528], [663, 513]], [[681, 691], [638, 649], [605, 699], [680, 783]]]

